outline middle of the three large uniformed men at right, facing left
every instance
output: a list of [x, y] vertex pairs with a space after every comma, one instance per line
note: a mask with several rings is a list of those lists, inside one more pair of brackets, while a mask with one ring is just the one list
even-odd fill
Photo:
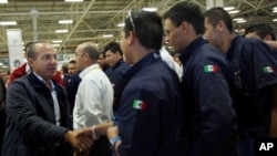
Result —
[[164, 14], [166, 39], [183, 64], [185, 139], [189, 156], [233, 156], [236, 116], [229, 95], [229, 65], [203, 39], [201, 8], [188, 1]]

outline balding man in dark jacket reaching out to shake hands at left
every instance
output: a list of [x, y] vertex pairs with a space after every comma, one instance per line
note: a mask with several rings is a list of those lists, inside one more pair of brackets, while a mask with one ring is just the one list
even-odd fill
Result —
[[2, 156], [72, 155], [92, 141], [82, 129], [70, 131], [65, 91], [52, 80], [57, 53], [47, 42], [33, 43], [28, 53], [30, 74], [16, 80], [7, 92], [7, 125]]

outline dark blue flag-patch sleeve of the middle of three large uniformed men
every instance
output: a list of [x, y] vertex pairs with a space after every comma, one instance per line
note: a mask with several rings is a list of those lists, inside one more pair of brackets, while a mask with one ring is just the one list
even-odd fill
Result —
[[196, 106], [193, 116], [188, 116], [192, 155], [226, 155], [234, 143], [235, 113], [220, 66], [211, 61], [197, 63], [193, 81]]

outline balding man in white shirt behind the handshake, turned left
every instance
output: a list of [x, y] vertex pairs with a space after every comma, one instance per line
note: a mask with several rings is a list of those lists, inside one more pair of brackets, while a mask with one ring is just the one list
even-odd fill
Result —
[[[75, 60], [81, 83], [73, 110], [74, 129], [84, 128], [112, 119], [113, 87], [98, 64], [98, 48], [92, 42], [81, 43], [75, 50]], [[86, 152], [89, 153], [89, 152]], [[111, 155], [109, 141], [100, 137], [94, 142], [90, 155]]]

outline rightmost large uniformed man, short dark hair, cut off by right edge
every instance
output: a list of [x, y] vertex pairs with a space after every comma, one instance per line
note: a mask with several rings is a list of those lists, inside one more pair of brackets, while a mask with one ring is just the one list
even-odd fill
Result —
[[206, 39], [230, 62], [238, 155], [253, 156], [254, 139], [277, 137], [276, 53], [260, 40], [236, 35], [223, 8], [212, 8], [204, 15]]

